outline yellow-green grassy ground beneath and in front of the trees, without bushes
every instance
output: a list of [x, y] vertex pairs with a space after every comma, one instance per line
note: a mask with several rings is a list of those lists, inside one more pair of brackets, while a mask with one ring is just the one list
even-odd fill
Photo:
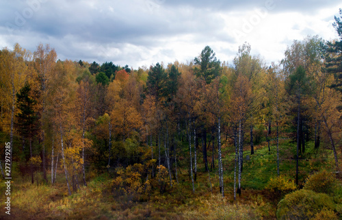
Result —
[[[295, 144], [289, 139], [280, 144], [280, 173], [290, 179], [295, 178]], [[208, 173], [198, 158], [195, 193], [187, 169], [181, 169], [179, 184], [167, 186], [165, 193], [153, 189], [144, 197], [113, 193], [111, 177], [107, 173], [88, 172], [88, 186], [81, 186], [77, 192], [68, 196], [62, 170], [57, 173], [57, 181], [51, 186], [42, 184], [41, 173], [31, 184], [29, 176], [18, 171], [12, 175], [11, 215], [1, 208], [0, 219], [276, 219], [276, 202], [265, 189], [270, 178], [277, 175], [276, 147], [268, 150], [266, 142], [255, 146], [255, 154], [244, 149], [244, 170], [241, 178], [241, 195], [234, 200], [234, 151], [222, 146], [224, 164], [224, 192], [222, 199], [218, 185], [217, 169], [211, 172], [210, 190]], [[249, 160], [246, 156], [249, 155]], [[340, 154], [341, 155], [341, 154]], [[211, 158], [210, 158], [211, 159]], [[217, 168], [217, 160], [215, 166]], [[186, 166], [184, 166], [186, 167]], [[334, 160], [330, 151], [314, 149], [308, 143], [300, 160], [300, 185], [308, 175], [326, 169], [332, 171]], [[48, 173], [49, 175], [49, 173]], [[5, 194], [5, 184], [0, 185]], [[5, 195], [0, 197], [4, 204]], [[4, 207], [4, 205], [3, 205]]]

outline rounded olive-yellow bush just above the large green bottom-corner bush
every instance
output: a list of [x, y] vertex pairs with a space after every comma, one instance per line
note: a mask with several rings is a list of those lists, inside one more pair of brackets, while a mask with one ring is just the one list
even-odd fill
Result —
[[316, 193], [333, 193], [337, 179], [328, 171], [321, 171], [306, 178], [304, 189]]

